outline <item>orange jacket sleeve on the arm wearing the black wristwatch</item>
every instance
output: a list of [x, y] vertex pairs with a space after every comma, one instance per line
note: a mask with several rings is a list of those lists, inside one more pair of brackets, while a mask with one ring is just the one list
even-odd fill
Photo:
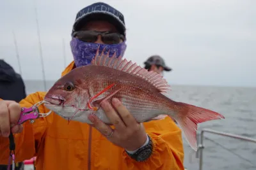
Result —
[[144, 162], [131, 159], [126, 152], [123, 157], [127, 169], [175, 169], [184, 170], [182, 134], [170, 117], [144, 123], [148, 136], [153, 142], [153, 153]]

